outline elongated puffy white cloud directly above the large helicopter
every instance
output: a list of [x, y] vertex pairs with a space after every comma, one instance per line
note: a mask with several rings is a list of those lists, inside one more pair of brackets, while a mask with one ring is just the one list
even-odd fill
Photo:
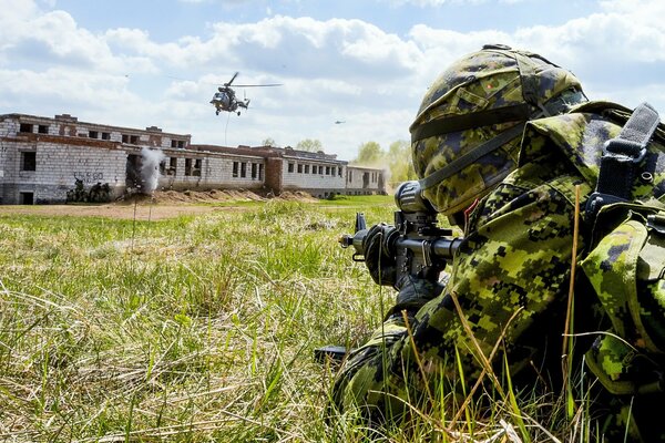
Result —
[[360, 20], [275, 16], [256, 23], [218, 22], [213, 30], [195, 49], [200, 63], [231, 59], [252, 70], [310, 79], [398, 76], [419, 54], [411, 42]]

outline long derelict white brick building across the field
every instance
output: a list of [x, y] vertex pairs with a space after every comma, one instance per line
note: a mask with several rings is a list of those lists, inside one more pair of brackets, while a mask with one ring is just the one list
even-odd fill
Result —
[[115, 198], [156, 189], [254, 189], [385, 194], [385, 173], [336, 155], [291, 147], [192, 144], [190, 134], [53, 119], [0, 115], [0, 204], [64, 203], [79, 187]]

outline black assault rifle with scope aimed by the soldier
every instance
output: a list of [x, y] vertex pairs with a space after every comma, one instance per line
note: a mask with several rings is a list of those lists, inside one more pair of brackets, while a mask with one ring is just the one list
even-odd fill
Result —
[[[438, 269], [446, 268], [447, 260], [452, 259], [462, 243], [462, 238], [453, 237], [452, 229], [437, 225], [437, 210], [422, 196], [418, 182], [405, 182], [395, 192], [396, 231], [385, 241], [388, 254], [396, 259], [396, 281], [402, 275], [423, 277], [436, 265]], [[362, 243], [369, 229], [365, 214], [356, 214], [355, 234], [345, 234], [339, 238], [342, 248], [354, 247], [354, 261], [365, 261]], [[344, 347], [325, 347], [315, 350], [315, 358], [324, 360], [342, 360], [346, 354]]]

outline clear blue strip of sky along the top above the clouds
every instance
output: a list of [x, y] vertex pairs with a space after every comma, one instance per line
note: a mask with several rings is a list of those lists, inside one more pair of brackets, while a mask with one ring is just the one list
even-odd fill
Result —
[[[256, 22], [272, 16], [360, 19], [386, 32], [406, 35], [415, 24], [442, 27], [468, 32], [484, 29], [516, 29], [534, 24], [564, 23], [580, 14], [595, 12], [597, 2], [583, 1], [375, 1], [375, 0], [290, 0], [290, 1], [96, 1], [94, 8], [84, 0], [59, 0], [58, 9], [68, 11], [90, 30], [109, 28], [147, 29], [155, 41], [174, 37], [202, 35], [214, 21]], [[178, 21], [177, 28], [165, 27], [155, 11]], [[546, 11], [548, 13], [542, 13]], [[494, 20], [500, 18], [500, 23]]]

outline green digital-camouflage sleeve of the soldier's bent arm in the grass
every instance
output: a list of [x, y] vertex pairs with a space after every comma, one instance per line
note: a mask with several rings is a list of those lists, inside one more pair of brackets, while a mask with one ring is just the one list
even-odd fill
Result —
[[[504, 330], [500, 349], [508, 353], [511, 377], [561, 354], [574, 185], [582, 181], [553, 168], [552, 179], [538, 178], [540, 166], [521, 168], [474, 210], [447, 290], [408, 329], [391, 319], [350, 356], [334, 387], [339, 410], [360, 406], [366, 419], [382, 421], [431, 405], [441, 388], [450, 392], [461, 380], [474, 383], [482, 370], [478, 348], [489, 357]], [[498, 370], [502, 361], [494, 358]]]

